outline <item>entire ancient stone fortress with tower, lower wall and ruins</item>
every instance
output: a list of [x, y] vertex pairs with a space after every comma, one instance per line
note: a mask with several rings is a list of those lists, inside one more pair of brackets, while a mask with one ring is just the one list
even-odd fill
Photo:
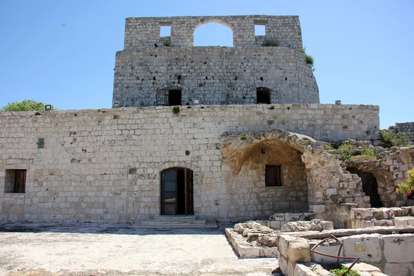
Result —
[[[195, 29], [210, 22], [233, 30], [233, 47], [193, 46]], [[257, 25], [265, 35], [255, 35]], [[170, 36], [160, 37], [166, 26]], [[344, 170], [324, 144], [377, 139], [378, 113], [319, 103], [298, 17], [128, 18], [112, 108], [0, 114], [0, 220], [207, 227], [255, 219], [226, 230], [230, 242], [241, 257], [277, 255], [286, 275], [324, 275], [299, 264], [325, 260], [308, 239], [387, 226], [378, 231], [392, 236], [350, 237], [342, 255], [374, 264], [369, 275], [413, 273], [404, 247], [413, 235], [395, 232], [414, 232], [414, 210], [392, 207], [408, 204], [395, 188], [414, 150], [382, 149], [380, 160]]]

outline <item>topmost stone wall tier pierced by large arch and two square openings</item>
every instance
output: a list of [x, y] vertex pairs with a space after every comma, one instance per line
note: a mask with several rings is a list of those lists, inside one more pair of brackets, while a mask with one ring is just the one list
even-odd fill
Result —
[[[233, 30], [233, 46], [258, 45], [277, 39], [282, 47], [302, 49], [302, 32], [297, 16], [213, 16], [213, 17], [130, 17], [125, 22], [124, 50], [162, 45], [160, 26], [171, 26], [172, 47], [193, 47], [194, 31], [205, 23], [221, 23]], [[255, 25], [266, 26], [265, 36], [255, 36]]]

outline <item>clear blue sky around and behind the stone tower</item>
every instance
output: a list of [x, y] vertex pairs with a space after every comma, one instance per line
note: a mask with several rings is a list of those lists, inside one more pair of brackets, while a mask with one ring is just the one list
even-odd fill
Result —
[[[412, 0], [1, 0], [0, 106], [110, 108], [126, 17], [244, 14], [299, 15], [321, 103], [379, 105], [381, 128], [414, 121]], [[216, 25], [197, 28], [195, 42], [228, 43], [231, 32]]]

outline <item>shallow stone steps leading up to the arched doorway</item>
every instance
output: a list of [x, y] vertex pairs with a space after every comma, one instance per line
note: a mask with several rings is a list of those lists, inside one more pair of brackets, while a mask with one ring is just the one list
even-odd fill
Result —
[[197, 219], [195, 215], [157, 215], [137, 221], [132, 228], [217, 228], [215, 221]]

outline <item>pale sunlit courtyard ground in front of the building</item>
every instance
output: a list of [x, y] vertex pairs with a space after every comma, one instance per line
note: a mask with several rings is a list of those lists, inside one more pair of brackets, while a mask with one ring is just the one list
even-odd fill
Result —
[[277, 259], [239, 259], [223, 228], [0, 222], [0, 275], [272, 275]]

